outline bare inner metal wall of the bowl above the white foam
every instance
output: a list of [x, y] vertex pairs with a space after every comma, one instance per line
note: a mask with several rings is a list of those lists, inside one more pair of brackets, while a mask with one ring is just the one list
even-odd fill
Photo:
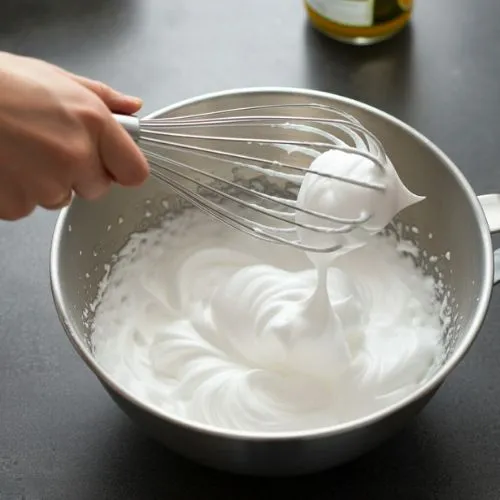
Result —
[[[403, 182], [426, 196], [424, 202], [401, 214], [400, 229], [425, 250], [422, 264], [426, 272], [443, 282], [447, 314], [452, 318], [443, 336], [447, 348], [443, 364], [450, 362], [459, 346], [470, 344], [477, 329], [472, 327], [482, 319], [478, 318], [477, 306], [481, 297], [489, 297], [490, 242], [468, 184], [429, 141], [397, 120], [359, 103], [297, 91], [241, 91], [210, 96], [181, 103], [158, 116], [299, 102], [333, 105], [356, 117], [381, 140]], [[318, 109], [313, 113], [323, 116], [324, 112]], [[283, 133], [293, 136], [293, 131]], [[251, 154], [251, 146], [243, 147], [242, 152]], [[273, 159], [280, 153], [269, 149], [267, 154]], [[196, 156], [190, 161], [195, 165], [200, 162]], [[215, 163], [198, 166], [214, 171], [220, 168]], [[62, 213], [54, 240], [52, 279], [57, 283], [56, 303], [68, 330], [85, 342], [84, 355], [92, 355], [89, 336], [94, 303], [99, 283], [109, 272], [116, 254], [131, 233], [157, 226], [186, 206], [166, 185], [150, 179], [140, 189], [115, 187], [98, 202], [76, 199]]]

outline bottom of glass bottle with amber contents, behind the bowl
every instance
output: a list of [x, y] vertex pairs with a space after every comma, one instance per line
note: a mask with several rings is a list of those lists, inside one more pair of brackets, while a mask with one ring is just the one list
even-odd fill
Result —
[[413, 0], [305, 0], [312, 25], [336, 40], [371, 45], [410, 20]]

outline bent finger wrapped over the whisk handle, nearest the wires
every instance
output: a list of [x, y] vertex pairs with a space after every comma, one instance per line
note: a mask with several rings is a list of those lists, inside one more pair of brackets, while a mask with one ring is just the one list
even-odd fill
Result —
[[109, 176], [123, 186], [139, 186], [149, 175], [146, 158], [111, 115], [100, 137], [99, 155]]

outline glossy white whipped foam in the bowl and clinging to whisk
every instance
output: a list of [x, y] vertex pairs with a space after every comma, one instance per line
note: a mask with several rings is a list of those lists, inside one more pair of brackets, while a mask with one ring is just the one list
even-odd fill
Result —
[[[342, 156], [326, 155], [324, 168]], [[362, 161], [337, 163], [368, 176]], [[370, 210], [371, 234], [416, 201], [391, 175], [399, 187], [390, 199], [356, 198], [345, 183], [329, 198], [335, 181], [307, 176], [298, 203], [336, 215]], [[313, 254], [315, 267], [303, 252], [196, 210], [133, 235], [96, 310], [96, 359], [137, 398], [219, 428], [305, 430], [372, 414], [433, 374], [440, 305], [433, 279], [400, 251], [411, 243], [358, 236], [342, 236], [356, 249], [334, 260]]]

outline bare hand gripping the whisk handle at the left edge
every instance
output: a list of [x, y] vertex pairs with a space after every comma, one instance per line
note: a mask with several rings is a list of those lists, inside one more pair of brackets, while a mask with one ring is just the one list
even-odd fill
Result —
[[113, 181], [141, 184], [146, 159], [111, 114], [140, 107], [100, 82], [0, 52], [0, 219], [60, 208], [73, 192], [98, 198]]

